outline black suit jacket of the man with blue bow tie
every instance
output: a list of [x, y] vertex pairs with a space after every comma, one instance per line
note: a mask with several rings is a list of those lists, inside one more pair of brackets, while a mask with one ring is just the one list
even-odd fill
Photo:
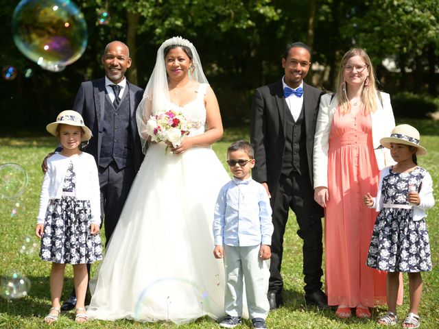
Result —
[[[314, 132], [322, 94], [324, 94], [322, 90], [303, 84], [303, 110], [311, 186], [313, 186]], [[252, 178], [257, 182], [267, 182], [270, 191], [274, 191], [281, 177], [287, 111], [289, 108], [283, 95], [282, 80], [257, 88], [250, 113], [250, 140], [256, 159]]]

